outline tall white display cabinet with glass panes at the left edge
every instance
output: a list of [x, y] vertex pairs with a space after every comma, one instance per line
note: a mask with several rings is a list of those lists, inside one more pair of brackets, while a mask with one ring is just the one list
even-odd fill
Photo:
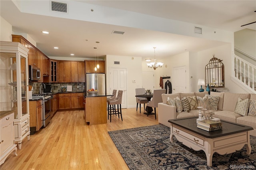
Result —
[[15, 142], [30, 138], [28, 48], [18, 42], [0, 42], [0, 111], [14, 111]]

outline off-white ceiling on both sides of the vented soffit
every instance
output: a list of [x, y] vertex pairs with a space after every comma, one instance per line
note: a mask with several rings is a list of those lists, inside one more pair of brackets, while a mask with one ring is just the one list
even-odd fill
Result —
[[[178, 20], [230, 32], [244, 28], [256, 30], [256, 24], [240, 27], [256, 21], [255, 0], [77, 0], [76, 2]], [[201, 51], [225, 43], [131, 26], [29, 14], [20, 12], [10, 0], [0, 1], [0, 14], [12, 25], [14, 33], [28, 34], [36, 42], [37, 48], [49, 57], [70, 58], [72, 57], [70, 53], [74, 53], [74, 57], [94, 58], [98, 53], [99, 57], [120, 55], [138, 56], [145, 59], [154, 58], [153, 47], [155, 46], [156, 58], [162, 58], [185, 51]], [[50, 34], [41, 34], [42, 29], [48, 30]], [[113, 30], [125, 33], [123, 35], [112, 34]], [[100, 43], [97, 44], [97, 41]], [[55, 46], [59, 49], [53, 49]]]

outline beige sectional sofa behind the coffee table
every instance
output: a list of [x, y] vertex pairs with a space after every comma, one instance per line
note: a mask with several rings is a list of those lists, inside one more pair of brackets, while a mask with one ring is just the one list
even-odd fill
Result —
[[[192, 92], [192, 93], [173, 93], [173, 94], [162, 94], [162, 103], [158, 103], [158, 122], [170, 127], [170, 123], [168, 123], [169, 119], [178, 119], [184, 117], [196, 117], [199, 114], [199, 110], [191, 110], [189, 112], [182, 111], [178, 113], [176, 110], [176, 106], [166, 104], [168, 97], [170, 99], [174, 99], [179, 97], [182, 99], [183, 97], [193, 97], [199, 96], [204, 97], [205, 94], [208, 94], [207, 91], [205, 92]], [[219, 118], [221, 120], [230, 121], [246, 126], [250, 126], [254, 128], [254, 130], [250, 131], [250, 135], [256, 136], [256, 115], [252, 115], [249, 113], [247, 116], [242, 116], [240, 114], [234, 113], [236, 108], [236, 103], [238, 98], [244, 99], [251, 99], [256, 100], [256, 94], [240, 94], [240, 93], [228, 93], [228, 92], [210, 92], [212, 96], [219, 96], [218, 100], [218, 110], [215, 111], [214, 117]], [[250, 100], [249, 100], [250, 101]]]

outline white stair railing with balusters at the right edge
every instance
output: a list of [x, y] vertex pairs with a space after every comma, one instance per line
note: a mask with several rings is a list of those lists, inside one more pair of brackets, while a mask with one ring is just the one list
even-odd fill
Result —
[[233, 53], [232, 77], [243, 83], [245, 87], [255, 92], [256, 65], [238, 57]]

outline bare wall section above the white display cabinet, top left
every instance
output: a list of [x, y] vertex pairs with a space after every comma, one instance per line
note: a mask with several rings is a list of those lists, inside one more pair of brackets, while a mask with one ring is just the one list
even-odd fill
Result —
[[12, 42], [12, 25], [0, 17], [0, 41]]

